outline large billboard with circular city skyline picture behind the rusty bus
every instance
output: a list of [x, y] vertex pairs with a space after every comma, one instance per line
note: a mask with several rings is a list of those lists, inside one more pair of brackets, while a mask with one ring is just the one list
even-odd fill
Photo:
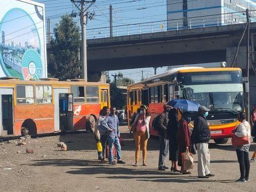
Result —
[[44, 5], [0, 0], [0, 77], [47, 77]]

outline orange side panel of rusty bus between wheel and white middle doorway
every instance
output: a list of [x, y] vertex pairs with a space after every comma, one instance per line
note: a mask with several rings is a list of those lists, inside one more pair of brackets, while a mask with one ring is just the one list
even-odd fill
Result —
[[35, 119], [37, 134], [54, 132], [54, 106], [38, 105]]

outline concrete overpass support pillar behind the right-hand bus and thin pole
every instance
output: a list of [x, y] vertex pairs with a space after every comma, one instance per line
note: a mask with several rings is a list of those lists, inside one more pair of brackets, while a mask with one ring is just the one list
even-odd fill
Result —
[[[237, 47], [227, 47], [226, 51], [226, 62], [227, 67], [231, 67], [233, 59], [236, 54]], [[254, 68], [256, 68], [255, 64]], [[243, 76], [246, 74], [246, 46], [239, 47], [237, 58], [234, 67], [239, 67], [243, 71]], [[252, 70], [252, 59], [250, 59], [250, 109], [252, 109], [253, 104], [256, 104], [256, 76]]]

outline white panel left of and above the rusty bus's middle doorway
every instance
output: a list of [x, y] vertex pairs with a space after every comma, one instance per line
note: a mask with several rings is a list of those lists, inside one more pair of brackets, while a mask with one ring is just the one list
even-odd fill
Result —
[[54, 89], [54, 131], [60, 131], [60, 93], [68, 93], [68, 89]]

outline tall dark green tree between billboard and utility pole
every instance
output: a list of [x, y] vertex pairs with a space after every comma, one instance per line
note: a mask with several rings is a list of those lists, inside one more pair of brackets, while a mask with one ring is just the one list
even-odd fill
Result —
[[65, 14], [53, 31], [55, 38], [51, 39], [49, 76], [62, 81], [81, 77], [81, 62], [78, 58], [81, 35], [76, 22], [70, 15]]

